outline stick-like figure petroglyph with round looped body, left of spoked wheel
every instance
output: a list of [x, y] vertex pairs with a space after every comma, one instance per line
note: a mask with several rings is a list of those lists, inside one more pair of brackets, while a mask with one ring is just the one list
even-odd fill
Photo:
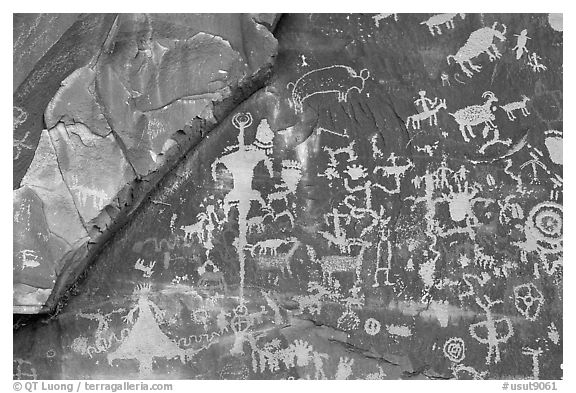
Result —
[[484, 296], [484, 301], [476, 298], [476, 304], [482, 308], [486, 314], [486, 320], [477, 322], [469, 327], [470, 335], [479, 343], [488, 345], [486, 364], [500, 362], [500, 345], [508, 342], [514, 334], [514, 327], [508, 317], [495, 319], [492, 308], [496, 304], [503, 303], [502, 300], [492, 301], [488, 296]]

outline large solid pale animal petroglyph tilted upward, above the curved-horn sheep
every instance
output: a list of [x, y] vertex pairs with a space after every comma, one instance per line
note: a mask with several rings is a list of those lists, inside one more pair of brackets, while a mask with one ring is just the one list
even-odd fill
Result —
[[[471, 78], [474, 75], [473, 71], [480, 72], [482, 69], [481, 66], [474, 65], [472, 59], [482, 53], [486, 53], [490, 61], [500, 58], [502, 55], [494, 43], [494, 38], [498, 38], [500, 41], [506, 40], [506, 25], [502, 24], [503, 30], [500, 32], [496, 30], [497, 24], [498, 22], [494, 22], [492, 27], [482, 27], [473, 31], [464, 46], [462, 46], [455, 55], [448, 55], [446, 57], [448, 64], [450, 64], [450, 59], [453, 59], [466, 76]], [[465, 66], [466, 63], [470, 69]]]

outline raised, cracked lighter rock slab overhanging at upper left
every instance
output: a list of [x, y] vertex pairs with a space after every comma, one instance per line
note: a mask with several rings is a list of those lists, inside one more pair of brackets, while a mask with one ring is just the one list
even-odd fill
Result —
[[[179, 157], [266, 79], [276, 39], [261, 23], [240, 14], [15, 17], [15, 64], [36, 60], [15, 75], [15, 193], [31, 187], [49, 230], [66, 235], [65, 252], [41, 258], [56, 269], [42, 288], [51, 297], [21, 303], [31, 297], [17, 285], [15, 312], [53, 309]], [[42, 274], [24, 270], [15, 284]]]

